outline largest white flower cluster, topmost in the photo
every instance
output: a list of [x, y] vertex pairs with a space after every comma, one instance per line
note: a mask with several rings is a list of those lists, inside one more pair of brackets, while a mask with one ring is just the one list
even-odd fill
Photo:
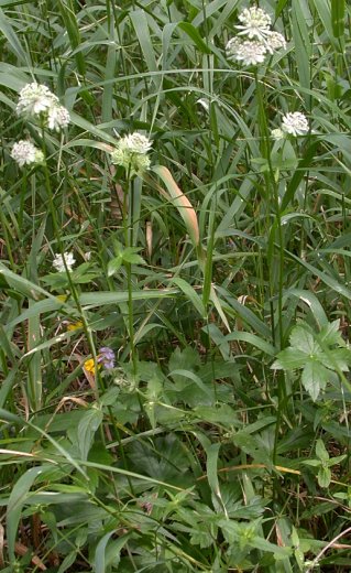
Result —
[[229, 40], [226, 52], [228, 60], [235, 60], [245, 66], [262, 64], [266, 54], [286, 47], [285, 37], [271, 30], [271, 17], [262, 8], [245, 8], [239, 14], [241, 24], [238, 35]]

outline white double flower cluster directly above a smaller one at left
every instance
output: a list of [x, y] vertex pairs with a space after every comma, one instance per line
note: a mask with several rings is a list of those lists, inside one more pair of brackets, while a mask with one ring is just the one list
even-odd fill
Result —
[[48, 129], [59, 131], [69, 123], [69, 113], [59, 105], [58, 97], [48, 87], [36, 84], [26, 84], [20, 91], [17, 105], [19, 116], [37, 117]]

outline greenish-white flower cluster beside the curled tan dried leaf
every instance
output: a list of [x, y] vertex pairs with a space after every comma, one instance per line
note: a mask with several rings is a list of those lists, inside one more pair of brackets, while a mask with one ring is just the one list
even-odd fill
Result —
[[112, 163], [121, 165], [131, 175], [142, 173], [150, 167], [151, 161], [147, 152], [151, 150], [150, 139], [141, 133], [130, 133], [118, 142], [117, 148], [111, 153]]

